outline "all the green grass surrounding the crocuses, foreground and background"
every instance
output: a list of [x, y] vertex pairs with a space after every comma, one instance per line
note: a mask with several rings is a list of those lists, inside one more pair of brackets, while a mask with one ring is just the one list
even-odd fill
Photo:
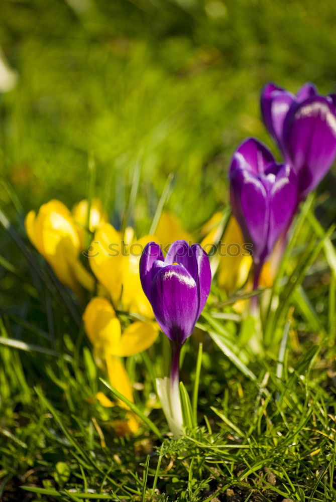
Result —
[[334, 168], [295, 220], [260, 330], [214, 281], [182, 354], [192, 427], [179, 440], [155, 395], [163, 335], [127, 360], [147, 421], [121, 438], [112, 423], [125, 411], [95, 399], [113, 393], [82, 306], [23, 229], [31, 208], [94, 192], [111, 221], [126, 213], [143, 234], [166, 187], [166, 207], [197, 231], [228, 201], [239, 142], [254, 135], [275, 150], [259, 119], [262, 85], [333, 90], [334, 2], [70, 5], [1, 6], [0, 45], [19, 81], [0, 95], [0, 499], [336, 500]]

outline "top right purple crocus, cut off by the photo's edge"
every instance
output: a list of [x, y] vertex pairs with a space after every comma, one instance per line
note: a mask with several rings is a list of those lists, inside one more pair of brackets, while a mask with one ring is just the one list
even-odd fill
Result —
[[294, 96], [269, 83], [261, 94], [261, 112], [266, 129], [298, 176], [303, 200], [336, 156], [336, 95], [320, 96], [306, 83]]

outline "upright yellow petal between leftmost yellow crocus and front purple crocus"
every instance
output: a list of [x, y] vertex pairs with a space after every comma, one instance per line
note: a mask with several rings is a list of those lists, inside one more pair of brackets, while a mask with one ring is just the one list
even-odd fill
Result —
[[109, 223], [103, 223], [94, 234], [88, 260], [92, 272], [115, 305], [122, 293], [122, 254], [120, 233]]

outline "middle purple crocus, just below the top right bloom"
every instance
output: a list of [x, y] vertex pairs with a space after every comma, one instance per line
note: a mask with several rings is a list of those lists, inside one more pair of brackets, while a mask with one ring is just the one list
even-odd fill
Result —
[[232, 211], [247, 242], [253, 243], [255, 287], [263, 263], [297, 207], [297, 177], [288, 164], [250, 138], [236, 150], [229, 171]]

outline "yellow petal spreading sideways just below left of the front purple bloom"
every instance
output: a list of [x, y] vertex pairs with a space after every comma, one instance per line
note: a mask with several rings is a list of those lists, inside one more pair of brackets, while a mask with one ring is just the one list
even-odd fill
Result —
[[[155, 322], [136, 321], [124, 329], [120, 345], [120, 355], [123, 357], [138, 354], [150, 347], [159, 334]], [[116, 353], [116, 352], [114, 352]]]

